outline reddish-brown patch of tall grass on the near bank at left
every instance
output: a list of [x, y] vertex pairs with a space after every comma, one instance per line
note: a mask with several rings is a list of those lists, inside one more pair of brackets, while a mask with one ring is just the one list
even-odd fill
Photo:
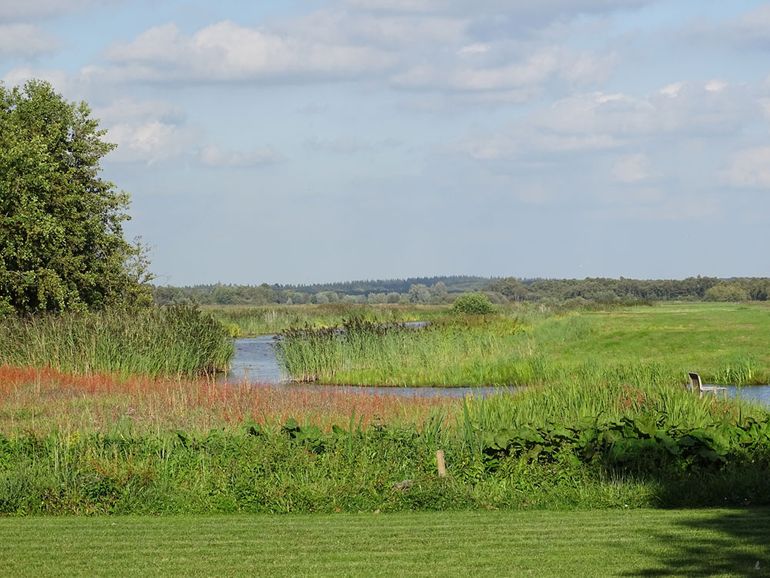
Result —
[[456, 413], [459, 400], [351, 394], [322, 387], [222, 385], [211, 380], [71, 375], [0, 366], [0, 434], [29, 431], [132, 435], [208, 432], [289, 419], [324, 429], [376, 424], [422, 428], [434, 413]]

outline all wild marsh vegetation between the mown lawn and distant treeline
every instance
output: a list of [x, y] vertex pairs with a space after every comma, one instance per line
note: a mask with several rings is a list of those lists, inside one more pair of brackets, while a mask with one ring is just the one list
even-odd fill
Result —
[[[718, 304], [524, 304], [480, 315], [313, 306], [231, 318], [272, 318], [276, 327], [301, 319], [284, 329], [280, 355], [295, 375], [322, 383], [528, 386], [465, 400], [186, 377], [212, 367], [197, 360], [226, 363], [230, 338], [214, 317], [227, 312], [7, 318], [0, 510], [770, 504], [767, 409], [683, 387], [692, 368], [711, 380], [766, 379], [768, 312]], [[430, 324], [403, 323], [416, 318]], [[181, 368], [164, 365], [185, 359], [175, 347], [207, 353]], [[446, 478], [437, 475], [438, 449]]]

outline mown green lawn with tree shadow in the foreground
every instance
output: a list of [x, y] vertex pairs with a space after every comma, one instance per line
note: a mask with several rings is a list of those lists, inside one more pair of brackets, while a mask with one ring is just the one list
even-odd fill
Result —
[[768, 510], [0, 519], [9, 576], [768, 576]]

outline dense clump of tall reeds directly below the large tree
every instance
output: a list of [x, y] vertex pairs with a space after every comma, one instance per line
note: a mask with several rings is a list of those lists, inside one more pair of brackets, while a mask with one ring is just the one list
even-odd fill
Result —
[[0, 320], [0, 365], [193, 377], [225, 371], [232, 354], [227, 329], [189, 306]]

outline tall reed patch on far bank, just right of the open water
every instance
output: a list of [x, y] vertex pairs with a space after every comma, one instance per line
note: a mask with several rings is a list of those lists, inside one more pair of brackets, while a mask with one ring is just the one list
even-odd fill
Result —
[[419, 329], [351, 319], [339, 328], [286, 331], [277, 349], [298, 381], [506, 385], [517, 382], [503, 361], [519, 330], [515, 319], [501, 317], [450, 318]]

